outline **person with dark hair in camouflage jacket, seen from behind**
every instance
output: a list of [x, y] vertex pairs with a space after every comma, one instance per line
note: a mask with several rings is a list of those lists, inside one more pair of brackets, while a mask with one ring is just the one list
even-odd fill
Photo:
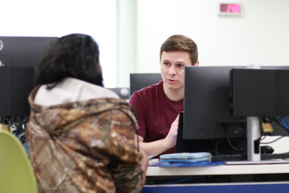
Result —
[[148, 158], [134, 141], [135, 111], [102, 81], [91, 36], [70, 34], [46, 48], [25, 131], [39, 192], [143, 188]]

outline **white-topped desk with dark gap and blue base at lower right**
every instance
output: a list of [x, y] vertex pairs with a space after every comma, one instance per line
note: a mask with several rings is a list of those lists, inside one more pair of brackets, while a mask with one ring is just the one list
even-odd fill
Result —
[[[289, 162], [270, 161], [271, 163], [261, 164], [179, 168], [149, 166], [147, 170], [149, 185], [145, 185], [142, 192], [272, 193], [281, 192], [281, 190], [286, 192], [289, 188]], [[159, 182], [167, 183], [169, 180], [194, 178], [197, 180], [188, 183], [158, 184]]]

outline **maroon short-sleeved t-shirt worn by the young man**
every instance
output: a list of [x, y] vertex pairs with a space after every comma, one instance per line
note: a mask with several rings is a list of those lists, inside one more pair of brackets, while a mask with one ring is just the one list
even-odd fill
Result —
[[[139, 132], [143, 142], [164, 139], [169, 133], [172, 122], [183, 111], [184, 100], [170, 100], [164, 90], [163, 81], [145, 87], [132, 94], [129, 103], [136, 110]], [[175, 153], [175, 147], [162, 154]]]

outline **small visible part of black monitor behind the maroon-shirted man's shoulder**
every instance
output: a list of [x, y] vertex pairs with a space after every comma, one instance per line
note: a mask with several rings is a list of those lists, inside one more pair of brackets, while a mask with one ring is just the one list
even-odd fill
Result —
[[129, 97], [135, 91], [141, 90], [153, 84], [159, 83], [162, 79], [160, 73], [133, 73], [130, 74]]

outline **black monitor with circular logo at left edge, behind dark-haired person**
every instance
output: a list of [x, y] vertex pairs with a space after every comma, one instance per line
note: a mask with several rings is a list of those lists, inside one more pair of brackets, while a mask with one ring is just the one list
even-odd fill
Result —
[[0, 36], [0, 116], [29, 116], [28, 95], [45, 48], [57, 37]]

